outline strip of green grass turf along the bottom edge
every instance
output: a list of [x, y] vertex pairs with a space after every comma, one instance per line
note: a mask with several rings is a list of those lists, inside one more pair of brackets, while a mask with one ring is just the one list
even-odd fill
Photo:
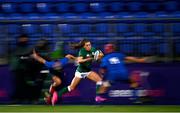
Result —
[[1, 105], [0, 112], [180, 112], [176, 105]]

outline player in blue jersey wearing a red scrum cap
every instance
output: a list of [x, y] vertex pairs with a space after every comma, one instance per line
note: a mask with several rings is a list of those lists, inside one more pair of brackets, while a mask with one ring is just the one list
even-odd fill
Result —
[[[125, 60], [143, 63], [146, 58], [136, 58], [126, 56], [115, 51], [114, 44], [106, 44], [104, 46], [105, 56], [101, 59], [100, 74], [103, 75], [103, 85], [99, 88], [99, 97], [103, 98], [107, 89], [116, 81], [130, 84], [130, 87], [136, 89], [138, 83], [132, 80], [129, 76], [128, 70], [125, 67]], [[102, 99], [99, 99], [101, 101]], [[105, 98], [103, 100], [106, 100]], [[98, 101], [98, 98], [97, 98]]]

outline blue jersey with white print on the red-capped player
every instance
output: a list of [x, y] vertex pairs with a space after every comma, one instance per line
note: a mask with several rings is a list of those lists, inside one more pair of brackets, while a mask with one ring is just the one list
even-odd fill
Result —
[[128, 72], [126, 67], [124, 66], [125, 55], [121, 53], [110, 53], [105, 55], [101, 60], [100, 67], [106, 69], [107, 76], [115, 77], [127, 77]]

